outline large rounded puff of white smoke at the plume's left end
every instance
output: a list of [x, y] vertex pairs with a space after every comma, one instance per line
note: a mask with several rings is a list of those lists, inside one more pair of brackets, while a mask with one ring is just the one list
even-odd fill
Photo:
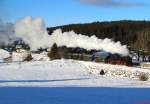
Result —
[[48, 47], [49, 35], [41, 18], [32, 19], [28, 16], [15, 24], [15, 34], [30, 45], [32, 50]]

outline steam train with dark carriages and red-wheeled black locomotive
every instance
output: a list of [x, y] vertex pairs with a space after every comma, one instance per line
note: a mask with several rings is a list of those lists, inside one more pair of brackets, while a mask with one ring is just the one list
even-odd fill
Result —
[[103, 62], [114, 65], [132, 66], [132, 58], [129, 56], [122, 56], [120, 54], [112, 54], [103, 50], [85, 50], [82, 48], [66, 48], [59, 47], [61, 53], [67, 53], [64, 58]]

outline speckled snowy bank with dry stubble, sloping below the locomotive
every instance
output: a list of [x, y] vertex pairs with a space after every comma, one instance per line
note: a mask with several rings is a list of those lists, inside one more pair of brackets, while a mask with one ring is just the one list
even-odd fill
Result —
[[91, 74], [95, 75], [100, 74], [100, 71], [104, 70], [106, 76], [116, 76], [121, 78], [127, 77], [131, 79], [139, 79], [139, 76], [141, 74], [147, 74], [148, 76], [150, 76], [150, 69], [92, 62], [83, 62], [83, 64], [88, 67], [88, 71]]

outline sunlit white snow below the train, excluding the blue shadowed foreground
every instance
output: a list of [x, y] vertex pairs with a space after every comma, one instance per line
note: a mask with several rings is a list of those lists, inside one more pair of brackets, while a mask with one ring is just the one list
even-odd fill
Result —
[[[103, 69], [106, 75], [99, 75]], [[75, 60], [34, 61], [0, 64], [0, 86], [39, 87], [150, 87], [150, 80], [139, 81], [119, 73], [146, 72], [148, 69]], [[93, 73], [93, 74], [91, 74]]]

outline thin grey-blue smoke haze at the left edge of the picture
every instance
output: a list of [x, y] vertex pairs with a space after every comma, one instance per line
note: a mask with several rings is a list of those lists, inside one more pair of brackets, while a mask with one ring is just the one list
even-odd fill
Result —
[[5, 23], [0, 19], [0, 45], [7, 45], [16, 40], [14, 24]]

